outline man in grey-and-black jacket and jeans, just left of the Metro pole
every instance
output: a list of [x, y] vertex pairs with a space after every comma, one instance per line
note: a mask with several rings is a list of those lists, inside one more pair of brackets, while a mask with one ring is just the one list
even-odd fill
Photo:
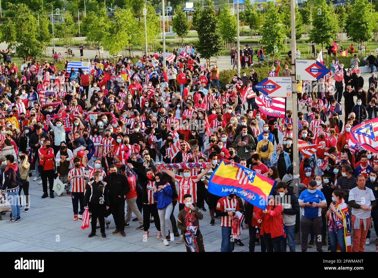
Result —
[[281, 241], [281, 252], [286, 252], [286, 239], [289, 242], [290, 252], [295, 252], [295, 240], [294, 234], [299, 230], [299, 202], [298, 197], [294, 195], [293, 189], [288, 187], [285, 182], [279, 182], [276, 185], [276, 189], [280, 195], [279, 202], [283, 207], [282, 218], [286, 227], [286, 238]]

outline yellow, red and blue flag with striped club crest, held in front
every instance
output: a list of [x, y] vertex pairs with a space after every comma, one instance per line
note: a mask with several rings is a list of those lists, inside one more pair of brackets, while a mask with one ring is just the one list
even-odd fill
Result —
[[222, 159], [210, 177], [208, 191], [222, 197], [235, 193], [264, 210], [276, 182], [240, 164]]

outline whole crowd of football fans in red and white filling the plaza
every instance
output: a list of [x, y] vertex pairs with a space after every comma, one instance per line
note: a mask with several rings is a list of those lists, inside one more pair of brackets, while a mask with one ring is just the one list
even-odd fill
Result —
[[[248, 49], [242, 59], [249, 66]], [[222, 252], [243, 246], [232, 238], [239, 212], [250, 252], [256, 241], [262, 252], [286, 252], [287, 245], [295, 252], [299, 229], [302, 252], [314, 242], [319, 252], [326, 246], [349, 251], [352, 230], [351, 250], [363, 251], [370, 244], [371, 219], [378, 230], [378, 154], [354, 151], [349, 138], [351, 127], [378, 117], [374, 73], [368, 92], [358, 64], [341, 64], [316, 86], [301, 81], [299, 120], [293, 122], [291, 110], [277, 118], [260, 111], [254, 97], [242, 102], [243, 92], [265, 78], [253, 69], [222, 86], [217, 65], [201, 63], [192, 45], [176, 54], [166, 65], [161, 52], [135, 64], [129, 57], [113, 63], [96, 56], [89, 70], [77, 71], [67, 68], [68, 61], [57, 70], [53, 61], [32, 60], [20, 73], [15, 63], [2, 63], [0, 180], [11, 207], [8, 223], [21, 219], [21, 204], [24, 213], [31, 209], [29, 179], [40, 180], [42, 198], [57, 196], [53, 185], [59, 179], [65, 184], [59, 197], [71, 196], [73, 221], [91, 213], [89, 237], [99, 229], [105, 238], [112, 215], [113, 234], [126, 236], [130, 221], [138, 221], [136, 229], [148, 238], [154, 223], [164, 245], [184, 242], [188, 252], [205, 251], [200, 223], [208, 210], [210, 225], [221, 226]], [[291, 76], [290, 66], [283, 68]], [[279, 66], [267, 74], [279, 75]], [[299, 139], [321, 145], [310, 157], [299, 153], [299, 196], [293, 182], [294, 124]], [[265, 210], [234, 193], [208, 191], [221, 159], [277, 181]], [[180, 162], [209, 163], [197, 169], [160, 167]]]

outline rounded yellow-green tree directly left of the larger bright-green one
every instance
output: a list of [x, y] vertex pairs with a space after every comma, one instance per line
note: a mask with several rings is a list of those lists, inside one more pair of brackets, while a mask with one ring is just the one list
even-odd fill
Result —
[[105, 14], [104, 9], [99, 10], [98, 15], [95, 12], [87, 12], [87, 16], [83, 17], [83, 33], [86, 34], [87, 42], [96, 43], [98, 47], [107, 36], [110, 21]]

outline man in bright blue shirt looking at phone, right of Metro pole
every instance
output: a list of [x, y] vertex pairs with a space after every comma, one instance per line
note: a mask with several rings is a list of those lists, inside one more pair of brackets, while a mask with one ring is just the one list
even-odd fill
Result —
[[322, 252], [322, 208], [327, 207], [323, 193], [316, 189], [315, 180], [308, 182], [308, 189], [299, 195], [299, 207], [302, 207], [301, 218], [301, 246], [302, 252], [307, 252], [308, 234], [313, 230], [316, 241], [316, 250]]

